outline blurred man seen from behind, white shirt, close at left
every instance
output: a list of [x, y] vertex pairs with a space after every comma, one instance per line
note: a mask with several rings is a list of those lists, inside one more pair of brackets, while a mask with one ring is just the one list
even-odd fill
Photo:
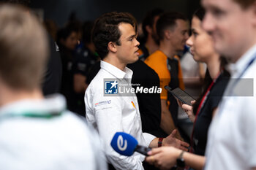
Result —
[[27, 9], [0, 6], [0, 167], [107, 169], [97, 132], [40, 88], [47, 38]]

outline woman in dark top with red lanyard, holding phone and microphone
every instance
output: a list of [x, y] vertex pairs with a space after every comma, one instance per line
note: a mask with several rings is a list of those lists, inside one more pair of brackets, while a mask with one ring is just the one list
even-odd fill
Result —
[[[192, 18], [192, 35], [187, 40], [187, 45], [189, 45], [195, 61], [204, 62], [207, 65], [204, 90], [197, 101], [192, 101], [192, 107], [178, 101], [178, 104], [194, 123], [190, 152], [183, 152], [172, 147], [153, 150], [150, 153], [151, 157], [148, 157], [147, 160], [162, 169], [170, 169], [176, 164], [177, 159], [178, 166], [181, 166], [180, 161], [183, 162], [183, 167], [181, 167], [183, 169], [185, 166], [190, 166], [192, 169], [203, 169], [208, 128], [230, 77], [224, 67], [227, 61], [216, 52], [214, 40], [202, 27], [204, 15], [204, 9], [197, 9]], [[151, 161], [152, 157], [154, 161]]]

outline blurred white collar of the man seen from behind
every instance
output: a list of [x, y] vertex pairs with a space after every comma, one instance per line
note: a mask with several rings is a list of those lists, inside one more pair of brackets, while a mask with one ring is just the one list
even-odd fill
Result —
[[0, 108], [0, 117], [21, 116], [33, 114], [34, 116], [61, 114], [66, 109], [66, 100], [61, 95], [51, 95], [42, 99], [23, 99], [15, 101]]

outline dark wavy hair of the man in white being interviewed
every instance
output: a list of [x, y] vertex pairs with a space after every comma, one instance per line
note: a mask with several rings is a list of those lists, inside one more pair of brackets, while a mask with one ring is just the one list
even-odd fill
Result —
[[121, 45], [119, 39], [121, 33], [118, 29], [120, 23], [129, 23], [137, 31], [135, 18], [128, 12], [109, 12], [97, 18], [92, 31], [92, 42], [96, 47], [96, 52], [101, 59], [108, 55], [108, 43], [115, 42]]

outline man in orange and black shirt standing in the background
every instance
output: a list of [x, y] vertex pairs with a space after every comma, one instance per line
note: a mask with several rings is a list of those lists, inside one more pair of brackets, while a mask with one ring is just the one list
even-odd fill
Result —
[[[161, 93], [161, 124], [163, 136], [170, 134], [178, 124], [178, 104], [176, 99], [167, 93], [165, 85], [170, 88], [184, 89], [181, 66], [177, 53], [184, 50], [189, 38], [187, 18], [178, 12], [166, 12], [157, 21], [159, 36], [159, 50], [149, 55], [145, 63], [148, 64], [160, 79]], [[178, 137], [181, 137], [178, 135]]]

